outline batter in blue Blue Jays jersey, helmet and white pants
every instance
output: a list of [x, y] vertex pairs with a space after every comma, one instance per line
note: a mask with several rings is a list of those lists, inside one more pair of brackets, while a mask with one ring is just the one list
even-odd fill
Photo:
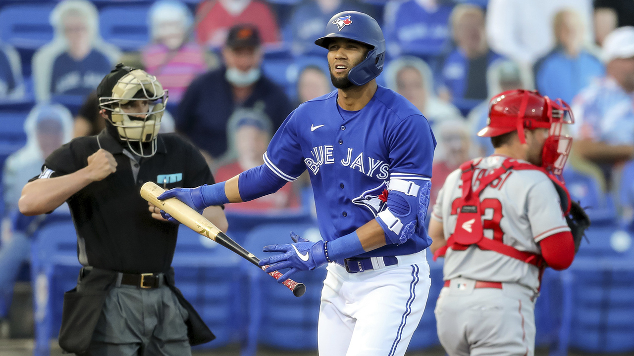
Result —
[[[423, 314], [430, 279], [423, 226], [436, 140], [420, 111], [377, 86], [385, 40], [377, 22], [339, 13], [315, 44], [328, 49], [338, 89], [293, 111], [264, 153], [264, 165], [226, 182], [171, 189], [198, 210], [280, 189], [308, 168], [324, 241], [264, 247], [267, 270], [328, 265], [321, 293], [320, 355], [403, 355]], [[171, 217], [168, 216], [169, 219]]]

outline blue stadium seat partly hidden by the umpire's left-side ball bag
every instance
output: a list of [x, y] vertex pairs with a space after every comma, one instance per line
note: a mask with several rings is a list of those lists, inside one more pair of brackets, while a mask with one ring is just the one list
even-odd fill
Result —
[[81, 265], [72, 221], [42, 226], [31, 246], [31, 277], [35, 313], [34, 355], [48, 355], [50, 339], [61, 326], [65, 291], [75, 288]]

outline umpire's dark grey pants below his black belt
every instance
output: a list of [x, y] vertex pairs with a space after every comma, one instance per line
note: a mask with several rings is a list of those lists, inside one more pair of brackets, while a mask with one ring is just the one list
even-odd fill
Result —
[[187, 319], [167, 286], [112, 288], [84, 355], [191, 355]]

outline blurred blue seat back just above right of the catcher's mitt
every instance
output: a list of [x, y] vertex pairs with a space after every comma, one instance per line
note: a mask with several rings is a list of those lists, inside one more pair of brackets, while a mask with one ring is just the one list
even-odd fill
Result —
[[587, 207], [586, 212], [593, 224], [616, 220], [616, 207], [612, 197], [603, 193], [591, 175], [583, 174], [571, 167], [566, 168], [563, 175], [571, 198], [579, 201], [581, 207]]

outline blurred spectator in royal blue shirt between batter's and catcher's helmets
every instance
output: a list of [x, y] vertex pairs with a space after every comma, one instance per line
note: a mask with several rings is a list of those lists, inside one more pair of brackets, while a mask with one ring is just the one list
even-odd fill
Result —
[[470, 4], [456, 6], [451, 13], [451, 28], [456, 47], [439, 62], [438, 94], [467, 115], [488, 98], [486, 70], [501, 56], [486, 42], [481, 8]]

